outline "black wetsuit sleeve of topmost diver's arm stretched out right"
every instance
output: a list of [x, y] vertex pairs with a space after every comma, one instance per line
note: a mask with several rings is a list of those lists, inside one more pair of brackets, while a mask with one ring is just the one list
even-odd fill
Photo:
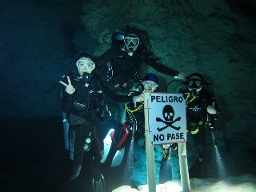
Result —
[[164, 66], [161, 62], [158, 61], [159, 58], [150, 58], [145, 57], [143, 62], [145, 62], [148, 66], [152, 66], [155, 70], [162, 74], [167, 74], [172, 77], [177, 76], [179, 74], [178, 70], [173, 70], [167, 66]]

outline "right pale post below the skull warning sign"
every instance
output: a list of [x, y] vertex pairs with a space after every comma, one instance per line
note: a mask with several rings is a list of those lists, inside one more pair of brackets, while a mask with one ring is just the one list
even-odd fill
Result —
[[190, 176], [187, 166], [186, 142], [178, 143], [178, 161], [181, 174], [182, 191], [190, 192]]

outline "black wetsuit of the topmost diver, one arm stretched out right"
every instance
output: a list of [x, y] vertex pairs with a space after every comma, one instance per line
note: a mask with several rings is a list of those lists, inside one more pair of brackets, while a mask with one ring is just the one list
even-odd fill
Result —
[[177, 76], [178, 71], [162, 65], [158, 58], [153, 58], [152, 54], [146, 53], [142, 46], [138, 47], [134, 56], [129, 56], [120, 49], [119, 46], [112, 46], [104, 54], [96, 58], [98, 65], [102, 68], [102, 81], [120, 86], [128, 82], [129, 79], [138, 82], [142, 63], [152, 66], [162, 74]]

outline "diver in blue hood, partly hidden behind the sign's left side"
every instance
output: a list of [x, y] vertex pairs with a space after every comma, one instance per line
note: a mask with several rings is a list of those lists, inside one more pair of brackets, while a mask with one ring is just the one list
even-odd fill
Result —
[[[130, 90], [129, 96], [152, 93], [158, 88], [158, 77], [155, 74], [146, 74], [142, 81]], [[126, 122], [133, 127], [133, 138], [138, 142], [144, 136], [144, 102], [126, 103]]]

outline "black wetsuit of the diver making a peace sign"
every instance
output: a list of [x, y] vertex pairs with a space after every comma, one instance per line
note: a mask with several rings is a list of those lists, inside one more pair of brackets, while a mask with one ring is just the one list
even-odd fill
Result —
[[[103, 138], [98, 131], [98, 122], [106, 118], [106, 99], [132, 102], [132, 97], [114, 94], [94, 75], [86, 80], [78, 74], [71, 74], [69, 77], [75, 92], [67, 94], [65, 88], [62, 90], [62, 111], [66, 113], [70, 124], [70, 154], [74, 154], [74, 164], [82, 166], [83, 146], [85, 139], [90, 137], [92, 143], [86, 157], [99, 162], [103, 154]], [[67, 82], [66, 77], [62, 81]]]

